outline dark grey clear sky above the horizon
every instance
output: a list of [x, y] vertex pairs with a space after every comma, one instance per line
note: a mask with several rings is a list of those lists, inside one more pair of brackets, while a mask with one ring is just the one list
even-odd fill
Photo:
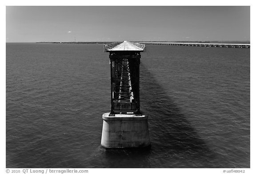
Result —
[[250, 41], [250, 6], [6, 6], [6, 42]]

